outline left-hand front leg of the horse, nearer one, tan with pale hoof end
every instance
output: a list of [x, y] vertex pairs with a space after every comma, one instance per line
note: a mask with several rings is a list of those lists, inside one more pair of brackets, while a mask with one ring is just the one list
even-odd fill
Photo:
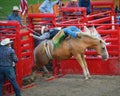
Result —
[[78, 61], [78, 63], [81, 65], [82, 70], [83, 70], [83, 74], [85, 76], [85, 79], [89, 79], [88, 75], [87, 75], [87, 71], [86, 71], [86, 66], [84, 64], [84, 61], [82, 60], [82, 56], [80, 54], [77, 54], [74, 57], [76, 58], [76, 60]]

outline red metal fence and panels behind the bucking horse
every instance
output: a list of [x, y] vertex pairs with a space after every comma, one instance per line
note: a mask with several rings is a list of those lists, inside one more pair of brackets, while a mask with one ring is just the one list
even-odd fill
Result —
[[[68, 10], [69, 11], [69, 10]], [[80, 10], [82, 11], [82, 10]], [[119, 26], [115, 24], [115, 13], [113, 11], [107, 11], [102, 12], [98, 14], [93, 15], [82, 15], [86, 16], [88, 21], [79, 22], [80, 18], [71, 19], [67, 21], [55, 21], [55, 16], [51, 14], [46, 14], [46, 16], [53, 19], [53, 23], [51, 25], [54, 26], [71, 26], [75, 25], [79, 28], [83, 28], [84, 26], [95, 26], [98, 30], [98, 32], [101, 34], [101, 36], [106, 39], [106, 42], [109, 43], [107, 45], [108, 52], [110, 54], [110, 59], [108, 61], [102, 61], [101, 58], [98, 58], [95, 52], [86, 52], [86, 60], [88, 63], [88, 67], [91, 74], [106, 74], [106, 75], [116, 75], [120, 74], [120, 64], [119, 64], [119, 47], [120, 47], [120, 41], [119, 41]], [[46, 17], [45, 16], [45, 17]], [[36, 28], [35, 26], [39, 25], [41, 26], [43, 24], [43, 21], [37, 20], [39, 18], [40, 20], [44, 18], [43, 14], [30, 14], [28, 16], [29, 26], [31, 28]], [[62, 17], [64, 18], [64, 17]], [[84, 17], [82, 17], [84, 18]], [[52, 20], [51, 19], [51, 20]], [[57, 23], [56, 23], [57, 22]], [[75, 22], [75, 23], [73, 23]], [[86, 24], [86, 22], [88, 22]], [[49, 25], [48, 23], [45, 23], [45, 25]], [[71, 58], [69, 60], [63, 60], [63, 61], [53, 61], [53, 67], [54, 67], [54, 75], [57, 74], [66, 74], [66, 73], [82, 73], [81, 67], [76, 62], [74, 58]]]

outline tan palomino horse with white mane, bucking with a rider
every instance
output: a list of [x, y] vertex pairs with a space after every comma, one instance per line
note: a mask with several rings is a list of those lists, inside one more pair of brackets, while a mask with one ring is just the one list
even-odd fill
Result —
[[[109, 56], [106, 49], [106, 44], [102, 38], [99, 38], [100, 35], [96, 32], [96, 29], [93, 28], [93, 31], [95, 32], [92, 33], [88, 31], [89, 29], [87, 29], [87, 32], [80, 32], [80, 37], [71, 37], [63, 40], [57, 48], [54, 48], [52, 40], [43, 41], [40, 43], [34, 51], [36, 66], [43, 67], [51, 59], [63, 60], [74, 56], [82, 67], [85, 79], [89, 79], [91, 76], [84, 57], [86, 49], [95, 49], [96, 52], [102, 56], [103, 60], [107, 60]], [[48, 48], [45, 46], [48, 46]], [[46, 51], [46, 49], [48, 49], [48, 51]]]

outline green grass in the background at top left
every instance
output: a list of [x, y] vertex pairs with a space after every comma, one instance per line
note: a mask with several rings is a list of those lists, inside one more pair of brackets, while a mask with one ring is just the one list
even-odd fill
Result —
[[[42, 3], [44, 0], [27, 0], [28, 6], [32, 4]], [[68, 0], [63, 0], [68, 1]], [[12, 12], [12, 8], [14, 5], [19, 6], [20, 0], [0, 0], [0, 19], [4, 17], [4, 19]]]

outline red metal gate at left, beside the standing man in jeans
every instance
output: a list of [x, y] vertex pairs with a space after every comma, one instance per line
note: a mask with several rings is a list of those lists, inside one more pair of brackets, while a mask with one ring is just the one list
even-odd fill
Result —
[[[17, 54], [19, 62], [16, 64], [16, 79], [22, 87], [22, 79], [32, 73], [33, 60], [33, 40], [29, 36], [29, 31], [20, 30], [20, 25], [16, 21], [0, 21], [0, 40], [11, 38], [14, 41], [13, 48]], [[4, 92], [12, 93], [11, 84], [6, 81]]]

